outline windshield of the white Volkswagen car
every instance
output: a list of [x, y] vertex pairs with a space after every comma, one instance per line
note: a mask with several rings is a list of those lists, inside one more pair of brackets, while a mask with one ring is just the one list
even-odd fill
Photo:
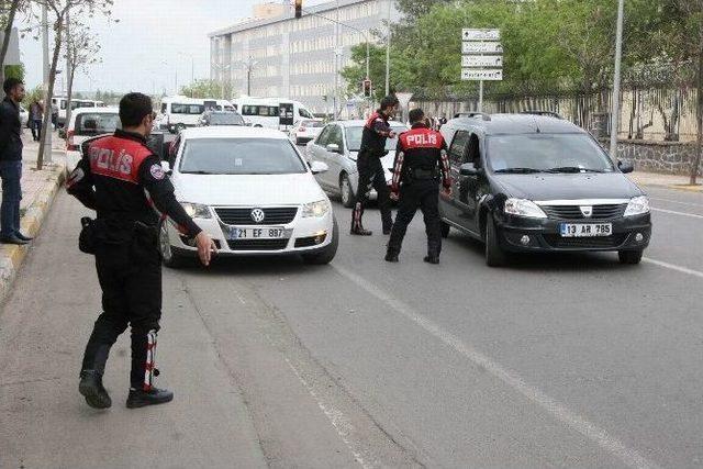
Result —
[[306, 172], [306, 168], [288, 139], [193, 138], [186, 142], [179, 171], [198, 175], [292, 175]]

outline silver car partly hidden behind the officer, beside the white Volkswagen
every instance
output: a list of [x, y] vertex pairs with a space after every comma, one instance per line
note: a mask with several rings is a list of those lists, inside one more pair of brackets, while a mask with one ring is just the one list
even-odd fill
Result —
[[[317, 182], [327, 192], [339, 196], [346, 208], [356, 203], [356, 190], [359, 182], [359, 171], [356, 168], [356, 158], [361, 148], [361, 133], [365, 121], [338, 121], [327, 124], [320, 135], [311, 141], [306, 148], [309, 161], [324, 163], [328, 171], [317, 175]], [[408, 126], [400, 122], [391, 122], [395, 133], [408, 131]], [[389, 168], [393, 166], [395, 158], [397, 138], [389, 138], [386, 143], [388, 155], [382, 158], [386, 182], [390, 186], [392, 175]], [[371, 190], [371, 199], [378, 194]]]

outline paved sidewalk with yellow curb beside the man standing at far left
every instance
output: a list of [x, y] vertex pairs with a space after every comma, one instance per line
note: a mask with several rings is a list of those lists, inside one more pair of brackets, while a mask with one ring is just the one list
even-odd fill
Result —
[[[36, 169], [36, 156], [38, 143], [32, 142], [26, 134], [23, 135], [24, 152], [22, 158], [22, 201], [20, 202], [21, 231], [27, 236], [36, 236], [46, 213], [48, 212], [54, 196], [62, 186], [65, 177], [66, 156], [64, 143], [54, 133], [52, 163], [44, 165], [42, 170]], [[2, 193], [0, 191], [0, 201]], [[0, 301], [5, 298], [12, 282], [32, 248], [26, 246], [0, 245]]]

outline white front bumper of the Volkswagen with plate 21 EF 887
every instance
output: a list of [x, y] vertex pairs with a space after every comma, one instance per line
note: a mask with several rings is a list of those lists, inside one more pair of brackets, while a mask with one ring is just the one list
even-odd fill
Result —
[[[224, 224], [220, 219], [194, 219], [194, 222], [205, 233], [208, 233], [217, 246], [217, 255], [232, 256], [280, 256], [294, 254], [314, 254], [323, 250], [333, 242], [334, 216], [332, 209], [321, 217], [302, 217], [302, 209], [299, 209], [295, 219], [288, 224], [269, 225], [246, 225], [247, 228], [272, 228], [282, 227], [286, 236], [280, 239], [244, 239], [231, 241], [227, 232], [230, 225]], [[178, 233], [176, 227], [169, 223], [168, 238], [171, 250], [180, 256], [196, 257], [198, 249], [194, 247], [192, 238]]]

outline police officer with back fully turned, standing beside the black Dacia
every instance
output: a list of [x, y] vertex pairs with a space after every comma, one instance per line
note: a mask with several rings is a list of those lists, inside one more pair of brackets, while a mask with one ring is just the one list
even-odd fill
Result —
[[[439, 264], [442, 252], [442, 223], [439, 220], [439, 179], [444, 194], [451, 194], [447, 145], [439, 132], [428, 129], [421, 109], [410, 111], [412, 129], [400, 134], [391, 198], [399, 200], [395, 224], [388, 242], [386, 260], [398, 263], [408, 225], [417, 209], [425, 217], [427, 256], [425, 263]], [[439, 174], [442, 175], [439, 177]]]

